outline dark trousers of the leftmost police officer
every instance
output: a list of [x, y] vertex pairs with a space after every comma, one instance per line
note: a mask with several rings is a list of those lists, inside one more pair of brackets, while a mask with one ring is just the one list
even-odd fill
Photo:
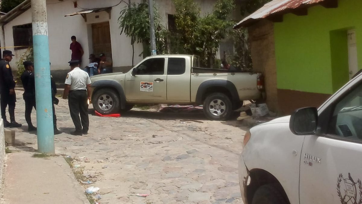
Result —
[[6, 121], [6, 107], [9, 105], [10, 121], [15, 122], [15, 102], [16, 97], [10, 95], [9, 89], [0, 90], [0, 106], [1, 106], [1, 118]]

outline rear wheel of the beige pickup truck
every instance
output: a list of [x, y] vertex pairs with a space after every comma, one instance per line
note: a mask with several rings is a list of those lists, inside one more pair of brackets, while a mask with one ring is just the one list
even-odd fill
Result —
[[[221, 103], [219, 104], [219, 102]], [[211, 109], [214, 108], [214, 104], [220, 105], [215, 108], [215, 111], [212, 113]], [[216, 111], [218, 109], [218, 112]], [[210, 120], [227, 120], [232, 112], [232, 104], [229, 97], [223, 93], [211, 93], [206, 97], [203, 104], [203, 111], [207, 118]], [[216, 114], [216, 115], [215, 115]]]

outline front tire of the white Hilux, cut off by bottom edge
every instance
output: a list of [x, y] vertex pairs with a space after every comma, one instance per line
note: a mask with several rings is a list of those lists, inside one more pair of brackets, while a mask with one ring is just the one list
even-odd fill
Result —
[[288, 204], [279, 189], [274, 184], [259, 187], [254, 193], [252, 204]]

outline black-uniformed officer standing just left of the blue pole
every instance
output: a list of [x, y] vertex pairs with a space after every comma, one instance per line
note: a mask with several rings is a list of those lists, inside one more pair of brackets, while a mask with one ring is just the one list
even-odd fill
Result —
[[31, 123], [31, 111], [33, 111], [33, 107], [36, 109], [34, 64], [30, 61], [25, 61], [23, 64], [25, 71], [21, 75], [21, 82], [24, 87], [25, 120], [28, 123], [28, 131], [31, 132], [37, 130]]

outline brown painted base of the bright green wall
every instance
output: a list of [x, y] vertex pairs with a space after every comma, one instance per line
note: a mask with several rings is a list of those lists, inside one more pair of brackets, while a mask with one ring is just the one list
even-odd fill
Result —
[[278, 109], [281, 115], [290, 115], [295, 109], [319, 107], [331, 95], [278, 89]]

